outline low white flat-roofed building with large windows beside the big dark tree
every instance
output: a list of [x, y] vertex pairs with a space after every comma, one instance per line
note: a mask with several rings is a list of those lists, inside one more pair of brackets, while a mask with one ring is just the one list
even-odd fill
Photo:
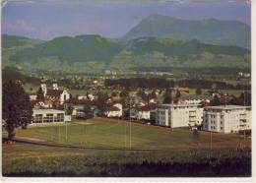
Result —
[[69, 119], [65, 111], [55, 109], [33, 109], [31, 125], [52, 125], [64, 123]]

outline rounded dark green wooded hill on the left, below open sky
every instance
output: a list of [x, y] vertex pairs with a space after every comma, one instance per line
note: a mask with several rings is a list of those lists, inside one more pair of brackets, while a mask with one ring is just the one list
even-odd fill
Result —
[[41, 57], [57, 57], [69, 63], [101, 61], [108, 62], [122, 49], [120, 41], [99, 35], [61, 36], [16, 53], [12, 59], [17, 62], [40, 61]]

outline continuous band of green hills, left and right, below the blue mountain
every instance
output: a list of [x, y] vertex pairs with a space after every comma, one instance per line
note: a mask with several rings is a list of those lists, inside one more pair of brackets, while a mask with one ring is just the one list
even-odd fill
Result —
[[[56, 37], [30, 46], [18, 44], [20, 39], [11, 37], [11, 41], [3, 42], [3, 66], [94, 73], [105, 68], [136, 67], [250, 68], [251, 61], [250, 50], [246, 48], [207, 44], [196, 39], [140, 37], [122, 41], [78, 35]], [[13, 43], [5, 45], [5, 42]]]

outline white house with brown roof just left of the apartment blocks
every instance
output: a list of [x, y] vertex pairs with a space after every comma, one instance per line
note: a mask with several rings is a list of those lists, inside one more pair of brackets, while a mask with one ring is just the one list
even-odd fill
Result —
[[132, 107], [130, 109], [130, 118], [136, 120], [152, 120], [155, 116], [156, 105], [145, 105]]

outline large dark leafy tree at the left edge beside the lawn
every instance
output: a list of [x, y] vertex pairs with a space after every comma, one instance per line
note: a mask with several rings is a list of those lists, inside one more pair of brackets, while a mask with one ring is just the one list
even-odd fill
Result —
[[14, 81], [8, 81], [3, 85], [3, 120], [9, 141], [15, 136], [15, 128], [26, 129], [28, 123], [32, 122], [30, 96]]

